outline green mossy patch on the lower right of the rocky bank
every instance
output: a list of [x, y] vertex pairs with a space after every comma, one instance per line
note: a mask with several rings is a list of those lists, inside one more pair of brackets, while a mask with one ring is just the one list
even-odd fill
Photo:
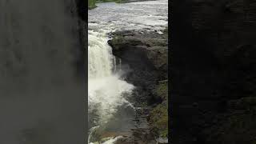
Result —
[[154, 133], [159, 137], [168, 137], [168, 81], [159, 82], [155, 89], [158, 97], [162, 98], [162, 103], [154, 107], [150, 112], [150, 123]]

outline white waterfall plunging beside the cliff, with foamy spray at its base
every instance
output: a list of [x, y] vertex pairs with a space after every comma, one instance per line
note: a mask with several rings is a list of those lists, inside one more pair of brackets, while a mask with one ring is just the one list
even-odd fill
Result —
[[123, 94], [129, 94], [134, 86], [114, 73], [116, 63], [112, 49], [107, 43], [106, 33], [89, 30], [88, 38], [88, 112], [89, 118], [90, 114], [98, 115], [94, 127], [90, 130], [92, 133], [95, 129], [102, 129], [110, 121], [118, 106], [129, 104]]

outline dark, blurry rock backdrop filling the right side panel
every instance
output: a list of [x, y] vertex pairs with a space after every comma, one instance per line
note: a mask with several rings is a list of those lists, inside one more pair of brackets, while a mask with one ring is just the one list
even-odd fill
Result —
[[[249, 115], [255, 106], [243, 99], [256, 96], [256, 2], [194, 0], [173, 7], [171, 140], [254, 142]], [[230, 101], [243, 102], [242, 108], [231, 108]]]

